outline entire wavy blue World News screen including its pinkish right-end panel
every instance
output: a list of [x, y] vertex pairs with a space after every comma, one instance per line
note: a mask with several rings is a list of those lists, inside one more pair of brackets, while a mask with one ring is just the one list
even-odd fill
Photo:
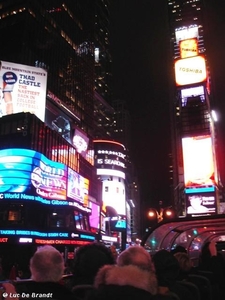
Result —
[[37, 151], [0, 150], [0, 200], [70, 205], [90, 213], [88, 190], [88, 179]]

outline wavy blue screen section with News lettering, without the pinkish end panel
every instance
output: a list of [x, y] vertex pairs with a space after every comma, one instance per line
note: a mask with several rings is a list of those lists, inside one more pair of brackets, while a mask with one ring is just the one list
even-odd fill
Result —
[[28, 149], [0, 150], [0, 199], [66, 199], [67, 167]]

